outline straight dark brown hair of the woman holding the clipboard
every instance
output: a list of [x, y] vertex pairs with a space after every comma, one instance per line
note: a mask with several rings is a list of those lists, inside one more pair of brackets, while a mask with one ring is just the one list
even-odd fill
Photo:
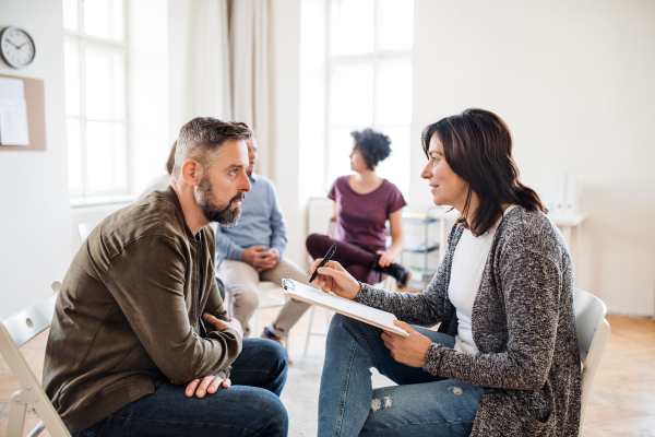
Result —
[[[466, 203], [457, 223], [468, 227], [473, 235], [483, 235], [493, 226], [502, 214], [503, 203], [548, 212], [539, 196], [521, 184], [512, 157], [512, 134], [496, 114], [472, 108], [427, 126], [421, 133], [426, 156], [434, 134], [443, 144], [448, 165], [468, 184]], [[467, 221], [472, 192], [477, 194], [479, 204]]]

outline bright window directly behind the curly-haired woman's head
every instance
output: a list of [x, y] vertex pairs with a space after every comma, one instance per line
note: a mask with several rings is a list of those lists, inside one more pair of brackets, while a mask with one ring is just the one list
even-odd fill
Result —
[[327, 25], [326, 186], [349, 173], [350, 132], [391, 138], [378, 174], [409, 188], [413, 0], [331, 0]]

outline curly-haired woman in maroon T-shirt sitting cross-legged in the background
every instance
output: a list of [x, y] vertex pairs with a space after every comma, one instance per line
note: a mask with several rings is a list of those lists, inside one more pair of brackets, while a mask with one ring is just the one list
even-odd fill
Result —
[[[400, 287], [406, 287], [410, 273], [395, 260], [405, 247], [402, 209], [407, 202], [395, 185], [376, 174], [377, 165], [391, 154], [391, 140], [372, 129], [350, 134], [355, 140], [349, 156], [350, 169], [355, 174], [337, 178], [327, 194], [334, 201], [334, 235], [310, 235], [307, 250], [315, 259], [337, 243], [332, 259], [357, 281], [377, 282], [371, 281], [374, 275], [370, 275], [374, 271], [395, 277]], [[389, 248], [385, 244], [388, 220]]]

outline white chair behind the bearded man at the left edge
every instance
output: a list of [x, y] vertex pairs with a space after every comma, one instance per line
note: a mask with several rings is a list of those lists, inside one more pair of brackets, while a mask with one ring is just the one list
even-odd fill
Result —
[[21, 390], [11, 397], [7, 437], [23, 436], [27, 405], [32, 405], [43, 421], [28, 434], [28, 437], [38, 436], [45, 428], [48, 428], [52, 437], [71, 437], [20, 350], [50, 327], [60, 286], [61, 283], [55, 282], [52, 284], [55, 294], [4, 321], [0, 320], [0, 354], [21, 386]]

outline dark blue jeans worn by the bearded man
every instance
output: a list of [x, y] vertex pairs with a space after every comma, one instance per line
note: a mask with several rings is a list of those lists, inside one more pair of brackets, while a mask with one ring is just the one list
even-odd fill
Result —
[[267, 339], [243, 339], [233, 364], [233, 386], [199, 399], [186, 386], [159, 381], [145, 395], [73, 437], [105, 436], [286, 436], [287, 412], [279, 400], [287, 354]]

